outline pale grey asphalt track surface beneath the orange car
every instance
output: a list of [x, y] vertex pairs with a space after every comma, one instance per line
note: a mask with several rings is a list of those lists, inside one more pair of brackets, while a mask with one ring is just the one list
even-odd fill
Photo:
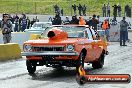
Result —
[[[132, 33], [129, 33], [132, 39]], [[104, 67], [92, 69], [85, 64], [87, 74], [130, 74], [132, 76], [132, 41], [127, 46], [110, 42], [109, 55], [105, 57]], [[50, 67], [37, 67], [34, 75], [26, 70], [25, 58], [0, 62], [0, 88], [131, 88], [129, 84], [85, 84], [76, 82], [75, 68], [56, 70]]]

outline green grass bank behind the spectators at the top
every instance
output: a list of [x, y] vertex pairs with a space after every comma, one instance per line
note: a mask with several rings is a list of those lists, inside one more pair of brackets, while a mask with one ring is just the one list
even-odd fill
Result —
[[[70, 2], [72, 1], [72, 2]], [[132, 0], [109, 0], [111, 5], [120, 4], [122, 14], [126, 4], [132, 5]], [[53, 5], [57, 4], [63, 8], [64, 15], [71, 14], [71, 4], [82, 4], [87, 6], [87, 15], [102, 15], [102, 5], [108, 3], [108, 0], [0, 0], [0, 13], [26, 13], [26, 14], [54, 14]], [[72, 11], [73, 13], [73, 11]]]

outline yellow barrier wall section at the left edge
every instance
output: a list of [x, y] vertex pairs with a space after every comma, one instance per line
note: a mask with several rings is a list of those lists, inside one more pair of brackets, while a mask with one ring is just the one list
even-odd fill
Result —
[[21, 58], [21, 49], [17, 43], [0, 44], [0, 61]]

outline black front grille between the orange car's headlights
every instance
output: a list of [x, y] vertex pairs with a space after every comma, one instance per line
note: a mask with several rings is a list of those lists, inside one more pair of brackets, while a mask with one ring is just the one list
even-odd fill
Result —
[[33, 46], [33, 51], [64, 51], [64, 46]]

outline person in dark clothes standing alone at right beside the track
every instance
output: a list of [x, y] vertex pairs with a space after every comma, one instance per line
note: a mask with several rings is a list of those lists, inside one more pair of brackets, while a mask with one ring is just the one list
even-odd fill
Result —
[[[123, 20], [120, 21], [120, 46], [127, 46], [125, 45], [125, 42], [126, 42], [128, 26], [129, 24], [125, 21], [125, 17], [123, 17]], [[122, 45], [122, 42], [123, 42], [123, 45]]]

